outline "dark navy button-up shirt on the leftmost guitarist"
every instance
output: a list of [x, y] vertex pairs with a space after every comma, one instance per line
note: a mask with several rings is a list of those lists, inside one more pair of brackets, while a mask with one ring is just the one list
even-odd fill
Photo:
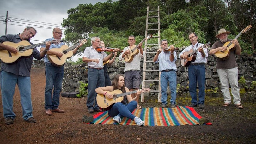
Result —
[[[19, 35], [20, 33], [16, 35], [15, 34], [3, 35], [0, 38], [0, 42], [3, 43], [5, 41], [10, 41], [14, 43], [19, 43], [20, 41], [22, 41]], [[30, 42], [30, 40], [27, 40], [27, 41]], [[31, 42], [30, 44], [33, 45], [33, 43]], [[20, 57], [20, 59], [13, 64], [6, 64], [2, 62], [1, 70], [13, 73], [15, 75], [22, 75], [22, 76], [29, 77], [30, 69], [33, 63], [33, 57], [38, 60], [42, 59], [42, 57], [40, 57], [40, 52], [36, 48], [33, 49], [33, 56], [29, 58]]]

